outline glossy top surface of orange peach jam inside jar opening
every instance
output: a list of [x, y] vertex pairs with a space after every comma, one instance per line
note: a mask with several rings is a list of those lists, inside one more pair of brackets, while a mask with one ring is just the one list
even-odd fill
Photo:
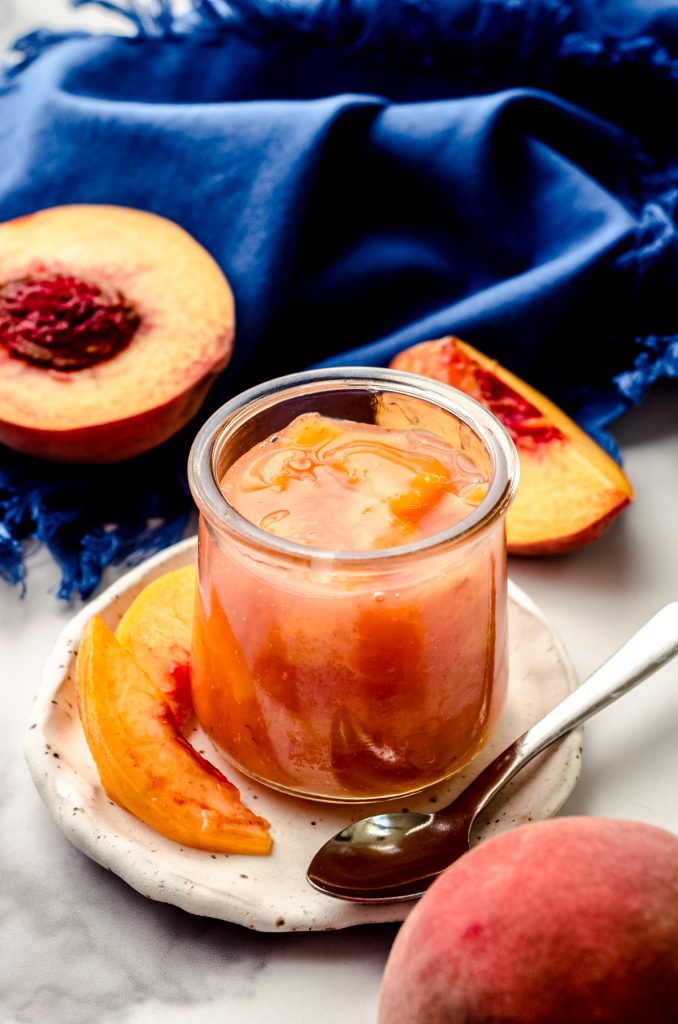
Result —
[[307, 413], [240, 458], [221, 489], [241, 515], [278, 537], [372, 551], [454, 526], [484, 498], [488, 481], [426, 430]]

